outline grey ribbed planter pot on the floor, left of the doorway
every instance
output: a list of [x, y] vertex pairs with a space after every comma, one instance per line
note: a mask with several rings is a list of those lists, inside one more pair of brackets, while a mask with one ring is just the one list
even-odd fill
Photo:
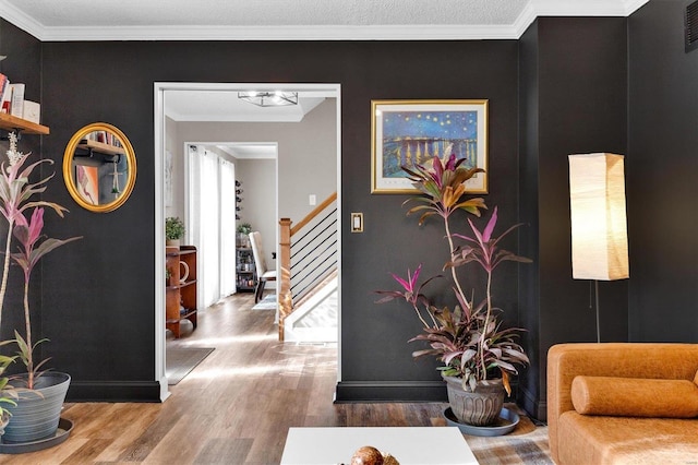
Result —
[[[24, 380], [26, 377], [20, 375]], [[49, 371], [36, 380], [35, 392], [21, 392], [17, 405], [7, 407], [12, 417], [2, 442], [24, 443], [56, 434], [69, 385], [69, 374]]]

